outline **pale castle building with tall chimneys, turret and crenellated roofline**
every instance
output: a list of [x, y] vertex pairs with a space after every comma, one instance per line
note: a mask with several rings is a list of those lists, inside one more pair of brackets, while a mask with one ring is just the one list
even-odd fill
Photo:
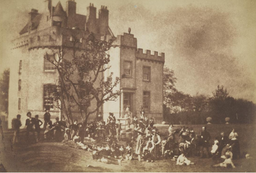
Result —
[[[20, 36], [13, 40], [11, 49], [12, 64], [10, 67], [9, 88], [9, 128], [11, 119], [17, 114], [22, 115], [22, 124], [25, 125], [26, 113], [32, 116], [39, 115], [43, 119], [45, 108], [51, 108], [51, 118], [61, 116], [59, 109], [46, 90], [47, 84], [56, 84], [57, 71], [54, 66], [44, 59], [46, 52], [51, 54], [52, 49], [67, 46], [74, 40], [73, 33], [83, 38], [93, 32], [98, 39], [114, 37], [108, 25], [108, 8], [101, 6], [98, 18], [94, 4], [87, 7], [87, 15], [76, 13], [77, 3], [74, 0], [66, 2], [66, 8], [59, 2], [55, 7], [51, 0], [45, 1], [45, 10], [42, 13], [32, 9], [28, 14], [28, 22], [20, 31]], [[85, 45], [84, 45], [85, 46]], [[118, 35], [109, 50], [111, 56], [110, 69], [102, 73], [109, 76], [114, 72], [116, 77], [123, 74], [118, 90], [122, 91], [117, 102], [106, 102], [101, 112], [106, 119], [108, 113], [114, 113], [121, 118], [127, 107], [133, 116], [139, 116], [142, 107], [145, 115], [153, 117], [156, 122], [162, 122], [163, 114], [163, 66], [165, 54], [150, 50], [137, 49], [137, 38], [131, 30]], [[66, 55], [68, 58], [68, 55]], [[89, 75], [89, 74], [88, 74]], [[101, 76], [101, 77], [102, 77]], [[98, 81], [99, 82], [99, 81]], [[94, 84], [97, 85], [97, 82]], [[92, 103], [93, 107], [93, 103]], [[74, 118], [80, 118], [74, 110]], [[77, 116], [77, 117], [76, 117]], [[89, 121], [94, 121], [96, 115], [91, 115]]]

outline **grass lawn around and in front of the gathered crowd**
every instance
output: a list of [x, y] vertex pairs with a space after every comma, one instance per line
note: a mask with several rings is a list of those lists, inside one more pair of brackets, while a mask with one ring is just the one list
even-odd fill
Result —
[[[168, 126], [156, 125], [160, 135], [167, 135]], [[188, 126], [199, 134], [202, 125]], [[248, 152], [252, 159], [235, 160], [236, 169], [211, 168], [218, 161], [212, 159], [189, 158], [195, 165], [176, 166], [171, 160], [154, 163], [125, 161], [122, 166], [107, 165], [94, 161], [91, 153], [70, 148], [61, 143], [38, 143], [30, 146], [11, 146], [11, 132], [6, 132], [4, 143], [0, 143], [0, 162], [8, 172], [256, 172], [256, 131], [254, 125], [207, 125], [212, 138], [223, 131], [227, 135], [232, 127], [239, 134], [241, 152]], [[175, 126], [180, 128], [180, 126]], [[220, 161], [219, 161], [220, 162]], [[87, 167], [91, 165], [90, 167]]]

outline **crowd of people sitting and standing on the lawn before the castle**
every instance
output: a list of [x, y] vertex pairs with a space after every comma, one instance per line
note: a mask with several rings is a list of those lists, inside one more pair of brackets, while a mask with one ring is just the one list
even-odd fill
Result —
[[[189, 157], [212, 157], [212, 159], [223, 159], [223, 163], [213, 165], [214, 167], [235, 168], [233, 159], [239, 159], [240, 146], [239, 136], [235, 129], [229, 136], [224, 132], [219, 137], [214, 138], [210, 143], [211, 135], [207, 127], [202, 127], [199, 133], [194, 132], [192, 128], [183, 126], [181, 129], [175, 129], [173, 125], [169, 126], [168, 135], [159, 135], [159, 129], [154, 126], [154, 119], [147, 116], [137, 118], [136, 116], [128, 121], [128, 126], [133, 124], [134, 128], [129, 128], [130, 137], [125, 137], [126, 144], [120, 142], [124, 133], [120, 120], [116, 120], [113, 113], [109, 113], [107, 121], [103, 121], [102, 114], [96, 117], [94, 122], [88, 124], [85, 130], [85, 137], [105, 141], [105, 144], [88, 145], [81, 140], [82, 123], [74, 120], [73, 124], [67, 125], [65, 118], [52, 123], [49, 109], [46, 109], [44, 123], [38, 115], [32, 118], [30, 112], [27, 113], [26, 120], [26, 141], [39, 142], [41, 126], [43, 125], [44, 140], [54, 140], [56, 142], [73, 143], [78, 147], [91, 151], [93, 159], [100, 162], [120, 164], [122, 160], [138, 159], [139, 162], [154, 162], [159, 159], [170, 158], [176, 161], [176, 165], [194, 164]], [[19, 142], [21, 115], [17, 115], [12, 121], [14, 129], [13, 143]], [[120, 142], [120, 143], [119, 143]], [[211, 150], [209, 150], [211, 148]]]

